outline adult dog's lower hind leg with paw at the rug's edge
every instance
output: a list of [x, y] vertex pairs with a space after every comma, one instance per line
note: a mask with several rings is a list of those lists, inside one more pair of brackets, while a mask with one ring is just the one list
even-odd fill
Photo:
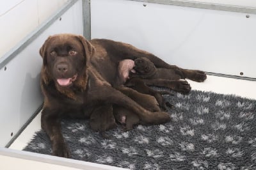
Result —
[[170, 81], [166, 79], [143, 79], [148, 86], [161, 86], [173, 89], [179, 93], [189, 93], [191, 90], [187, 81]]

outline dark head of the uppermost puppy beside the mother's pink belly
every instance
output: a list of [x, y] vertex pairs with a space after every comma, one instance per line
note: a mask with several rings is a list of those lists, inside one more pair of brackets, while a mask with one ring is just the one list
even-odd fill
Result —
[[157, 72], [156, 66], [148, 58], [137, 58], [134, 65], [136, 73], [143, 78], [151, 77]]

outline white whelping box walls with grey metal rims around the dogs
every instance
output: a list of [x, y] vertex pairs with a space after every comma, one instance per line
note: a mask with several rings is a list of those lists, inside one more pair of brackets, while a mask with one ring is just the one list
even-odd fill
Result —
[[108, 38], [131, 43], [172, 65], [256, 81], [255, 30], [253, 7], [186, 0], [67, 1], [0, 58], [1, 160], [72, 169], [121, 169], [8, 149], [42, 109], [42, 58], [38, 50], [49, 35], [74, 33], [88, 40]]

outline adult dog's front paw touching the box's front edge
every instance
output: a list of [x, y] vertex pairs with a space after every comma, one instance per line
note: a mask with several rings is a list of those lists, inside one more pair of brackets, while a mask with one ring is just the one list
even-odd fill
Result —
[[56, 143], [52, 145], [52, 155], [57, 157], [70, 158], [71, 153], [66, 143]]

